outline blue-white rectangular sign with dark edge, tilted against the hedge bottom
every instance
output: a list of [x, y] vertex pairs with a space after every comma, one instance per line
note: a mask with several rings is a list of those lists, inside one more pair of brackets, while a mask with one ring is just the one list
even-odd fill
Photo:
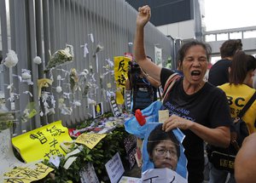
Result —
[[108, 172], [108, 177], [111, 183], [117, 183], [125, 169], [121, 161], [119, 152], [117, 152], [109, 161], [105, 164], [105, 168]]

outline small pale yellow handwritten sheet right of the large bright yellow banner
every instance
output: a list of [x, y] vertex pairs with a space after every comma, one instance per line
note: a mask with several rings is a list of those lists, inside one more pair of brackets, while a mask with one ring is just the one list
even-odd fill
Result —
[[84, 144], [92, 149], [96, 144], [101, 141], [107, 134], [80, 134], [76, 143]]

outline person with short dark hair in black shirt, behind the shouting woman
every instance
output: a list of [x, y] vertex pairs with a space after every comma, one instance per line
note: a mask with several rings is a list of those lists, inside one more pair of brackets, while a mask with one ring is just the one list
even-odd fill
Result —
[[220, 47], [221, 60], [218, 60], [209, 71], [208, 82], [214, 86], [229, 83], [229, 67], [234, 54], [242, 49], [241, 39], [230, 39]]

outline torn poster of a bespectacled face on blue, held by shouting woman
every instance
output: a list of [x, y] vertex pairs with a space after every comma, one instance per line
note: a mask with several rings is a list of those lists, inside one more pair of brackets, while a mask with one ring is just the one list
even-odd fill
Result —
[[162, 130], [162, 123], [148, 123], [143, 140], [143, 169], [172, 169], [187, 180], [187, 159], [182, 141], [184, 134], [179, 129]]

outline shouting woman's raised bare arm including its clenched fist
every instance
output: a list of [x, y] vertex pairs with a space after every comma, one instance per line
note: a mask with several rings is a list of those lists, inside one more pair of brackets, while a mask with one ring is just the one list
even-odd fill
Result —
[[134, 55], [137, 64], [143, 68], [144, 71], [153, 77], [156, 81], [160, 82], [160, 66], [156, 66], [150, 59], [147, 58], [144, 49], [144, 26], [150, 19], [150, 8], [148, 5], [138, 9], [137, 14], [137, 28], [134, 39]]

